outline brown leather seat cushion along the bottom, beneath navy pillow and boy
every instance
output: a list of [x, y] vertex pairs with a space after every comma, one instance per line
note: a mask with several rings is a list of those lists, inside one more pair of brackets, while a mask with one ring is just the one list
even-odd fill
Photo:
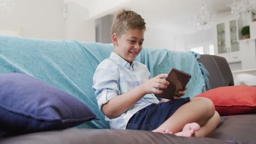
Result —
[[[235, 144], [208, 137], [183, 137], [172, 134], [154, 133], [145, 130], [74, 129], [46, 131], [0, 139], [1, 144]], [[237, 143], [238, 144], [238, 143]]]

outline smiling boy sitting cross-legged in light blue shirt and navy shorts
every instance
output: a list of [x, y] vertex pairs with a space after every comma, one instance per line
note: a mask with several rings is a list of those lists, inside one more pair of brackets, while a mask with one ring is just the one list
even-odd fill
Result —
[[175, 134], [206, 136], [219, 123], [219, 115], [211, 100], [180, 98], [159, 101], [153, 93], [169, 83], [160, 74], [150, 79], [146, 65], [136, 62], [142, 50], [146, 23], [141, 15], [121, 10], [114, 17], [112, 41], [114, 52], [102, 61], [94, 74], [98, 106], [112, 129], [138, 129]]

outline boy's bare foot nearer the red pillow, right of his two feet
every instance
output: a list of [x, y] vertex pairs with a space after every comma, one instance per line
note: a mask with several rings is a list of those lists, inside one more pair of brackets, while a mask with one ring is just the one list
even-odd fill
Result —
[[179, 133], [176, 133], [174, 135], [177, 136], [185, 136], [185, 137], [191, 137], [195, 134], [195, 131], [200, 129], [200, 125], [197, 123], [188, 123], [183, 127], [183, 130]]

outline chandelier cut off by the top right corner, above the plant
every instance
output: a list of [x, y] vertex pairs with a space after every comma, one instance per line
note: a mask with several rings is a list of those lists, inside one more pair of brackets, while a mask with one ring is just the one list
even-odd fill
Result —
[[246, 15], [246, 20], [249, 21], [252, 16], [252, 12], [256, 10], [256, 1], [255, 0], [243, 0], [238, 1], [233, 0], [231, 6], [231, 14], [239, 17], [240, 15]]

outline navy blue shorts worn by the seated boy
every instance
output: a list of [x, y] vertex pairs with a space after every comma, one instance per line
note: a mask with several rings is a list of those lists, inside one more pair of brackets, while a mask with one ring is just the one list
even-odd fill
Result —
[[126, 129], [152, 131], [170, 118], [179, 107], [189, 101], [190, 98], [181, 98], [160, 104], [150, 104], [130, 118]]

